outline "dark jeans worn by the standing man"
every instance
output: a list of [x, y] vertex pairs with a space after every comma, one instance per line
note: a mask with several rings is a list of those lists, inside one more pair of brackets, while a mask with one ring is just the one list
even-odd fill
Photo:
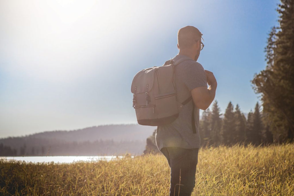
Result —
[[198, 148], [168, 147], [162, 148], [161, 153], [166, 157], [168, 165], [171, 167], [171, 188], [169, 195], [190, 196], [195, 186]]

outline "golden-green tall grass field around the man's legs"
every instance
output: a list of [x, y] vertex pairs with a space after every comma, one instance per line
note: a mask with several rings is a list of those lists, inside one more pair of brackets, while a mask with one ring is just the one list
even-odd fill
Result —
[[[294, 144], [199, 150], [192, 195], [294, 195]], [[168, 195], [163, 155], [110, 162], [0, 161], [0, 195]]]

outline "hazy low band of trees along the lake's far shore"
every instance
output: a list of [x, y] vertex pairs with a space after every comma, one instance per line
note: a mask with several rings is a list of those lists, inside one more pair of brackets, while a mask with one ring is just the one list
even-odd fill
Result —
[[30, 145], [24, 142], [20, 148], [12, 148], [0, 143], [0, 156], [106, 156], [106, 155], [140, 155], [145, 143], [135, 141], [96, 140], [94, 142], [66, 142], [44, 140], [42, 145]]

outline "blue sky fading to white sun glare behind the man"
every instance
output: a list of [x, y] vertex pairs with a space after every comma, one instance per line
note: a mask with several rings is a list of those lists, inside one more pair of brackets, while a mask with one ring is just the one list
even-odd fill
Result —
[[136, 123], [133, 77], [176, 56], [187, 25], [203, 33], [221, 113], [229, 101], [248, 113], [278, 3], [1, 0], [0, 138]]

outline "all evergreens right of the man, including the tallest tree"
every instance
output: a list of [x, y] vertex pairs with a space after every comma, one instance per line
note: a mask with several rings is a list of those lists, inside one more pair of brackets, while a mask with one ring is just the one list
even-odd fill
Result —
[[278, 5], [279, 26], [273, 26], [265, 47], [267, 66], [251, 81], [260, 96], [247, 118], [229, 102], [221, 118], [218, 102], [200, 122], [202, 145], [253, 145], [293, 142], [294, 135], [294, 1]]

